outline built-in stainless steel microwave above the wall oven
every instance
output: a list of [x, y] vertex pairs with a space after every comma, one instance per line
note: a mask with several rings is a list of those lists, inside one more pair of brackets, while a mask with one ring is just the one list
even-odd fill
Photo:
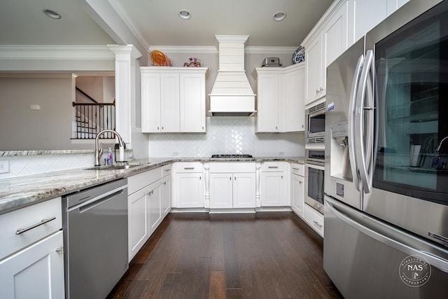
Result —
[[325, 144], [325, 102], [305, 111], [305, 143]]

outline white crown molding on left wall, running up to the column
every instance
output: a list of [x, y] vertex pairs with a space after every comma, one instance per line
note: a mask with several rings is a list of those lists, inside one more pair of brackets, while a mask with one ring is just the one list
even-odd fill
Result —
[[115, 60], [107, 46], [0, 46], [0, 60]]

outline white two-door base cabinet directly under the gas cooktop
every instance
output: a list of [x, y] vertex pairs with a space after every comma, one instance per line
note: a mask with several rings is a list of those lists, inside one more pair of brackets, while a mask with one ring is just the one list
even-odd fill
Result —
[[255, 162], [210, 162], [210, 209], [255, 209]]

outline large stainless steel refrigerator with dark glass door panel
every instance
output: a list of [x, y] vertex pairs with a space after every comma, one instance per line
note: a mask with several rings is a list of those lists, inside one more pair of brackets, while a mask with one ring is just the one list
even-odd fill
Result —
[[327, 68], [323, 266], [346, 298], [448, 296], [448, 1]]

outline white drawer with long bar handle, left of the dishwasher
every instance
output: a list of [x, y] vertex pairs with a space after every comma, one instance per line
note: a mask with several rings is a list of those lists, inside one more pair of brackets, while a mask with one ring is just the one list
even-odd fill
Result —
[[[0, 215], [0, 259], [62, 229], [62, 199]], [[17, 235], [17, 231], [22, 232]]]

